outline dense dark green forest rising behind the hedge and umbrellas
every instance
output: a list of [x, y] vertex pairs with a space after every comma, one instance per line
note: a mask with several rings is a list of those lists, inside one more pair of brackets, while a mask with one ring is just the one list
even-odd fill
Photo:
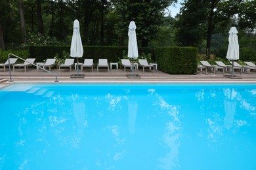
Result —
[[[224, 58], [228, 31], [236, 26], [240, 50], [256, 54], [256, 1], [185, 0], [171, 16], [177, 0], [2, 0], [0, 48], [70, 45], [75, 19], [83, 45], [127, 46], [131, 20], [142, 47], [195, 46], [200, 54]], [[256, 59], [255, 59], [256, 60]]]

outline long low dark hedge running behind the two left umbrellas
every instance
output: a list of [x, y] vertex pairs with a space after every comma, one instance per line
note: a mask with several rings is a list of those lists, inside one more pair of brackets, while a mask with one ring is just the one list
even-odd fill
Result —
[[[106, 58], [109, 62], [117, 62], [118, 58], [123, 57], [123, 51], [127, 54], [127, 50], [127, 46], [83, 46], [83, 58], [79, 58], [79, 61], [83, 62], [85, 58], [92, 58], [95, 61]], [[30, 46], [30, 57], [40, 62], [47, 58], [54, 58], [56, 53], [61, 58], [63, 51], [70, 52], [70, 46]], [[139, 54], [149, 52], [153, 52], [152, 48], [139, 48]]]

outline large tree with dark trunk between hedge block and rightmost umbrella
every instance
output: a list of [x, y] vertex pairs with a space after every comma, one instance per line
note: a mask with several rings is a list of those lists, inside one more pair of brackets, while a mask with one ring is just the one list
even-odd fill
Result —
[[206, 39], [205, 54], [209, 58], [213, 33], [216, 33], [216, 29], [226, 31], [228, 25], [237, 22], [232, 18], [239, 14], [238, 7], [242, 3], [244, 1], [241, 0], [185, 1], [177, 22], [177, 40], [185, 46], [198, 46]]

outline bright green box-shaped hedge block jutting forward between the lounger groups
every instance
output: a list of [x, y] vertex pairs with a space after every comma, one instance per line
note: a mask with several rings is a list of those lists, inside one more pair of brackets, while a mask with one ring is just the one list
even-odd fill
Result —
[[169, 74], [191, 75], [197, 70], [198, 48], [159, 47], [155, 50], [160, 71]]

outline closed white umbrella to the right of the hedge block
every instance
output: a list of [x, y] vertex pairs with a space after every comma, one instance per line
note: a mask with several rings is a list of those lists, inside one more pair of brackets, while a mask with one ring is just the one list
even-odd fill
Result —
[[239, 59], [239, 44], [238, 44], [238, 30], [236, 27], [231, 27], [228, 37], [228, 52], [226, 58], [232, 61], [232, 76], [234, 75], [234, 61]]

